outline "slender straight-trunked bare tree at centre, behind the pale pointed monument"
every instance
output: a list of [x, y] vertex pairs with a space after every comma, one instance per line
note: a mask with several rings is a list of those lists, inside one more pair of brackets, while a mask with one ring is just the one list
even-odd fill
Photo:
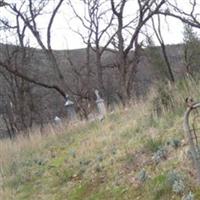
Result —
[[88, 49], [95, 52], [98, 88], [104, 94], [102, 55], [115, 34], [111, 34], [113, 14], [110, 12], [109, 2], [106, 0], [80, 0], [81, 2], [84, 4], [84, 16], [78, 13], [72, 1], [68, 0], [70, 8], [86, 30], [87, 36], [85, 37], [81, 31], [74, 31], [81, 36], [83, 42], [89, 47]]

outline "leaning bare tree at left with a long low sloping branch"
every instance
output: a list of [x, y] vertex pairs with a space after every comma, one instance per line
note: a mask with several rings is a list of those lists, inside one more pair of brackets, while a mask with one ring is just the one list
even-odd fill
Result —
[[[1, 63], [1, 66], [9, 70], [11, 73], [15, 74], [16, 76], [19, 76], [22, 79], [25, 79], [26, 81], [32, 82], [34, 84], [37, 84], [41, 87], [45, 87], [48, 89], [54, 89], [56, 90], [61, 96], [65, 98], [67, 92], [72, 92], [70, 88], [67, 86], [63, 73], [60, 70], [59, 64], [57, 62], [56, 57], [54, 56], [54, 53], [52, 51], [51, 47], [51, 29], [54, 22], [54, 19], [56, 17], [56, 14], [58, 13], [59, 8], [61, 7], [64, 0], [60, 0], [55, 9], [52, 11], [52, 14], [49, 18], [49, 23], [47, 25], [46, 29], [46, 36], [47, 41], [46, 45], [42, 40], [41, 33], [39, 31], [38, 25], [37, 25], [37, 18], [41, 16], [45, 10], [45, 7], [49, 4], [49, 0], [40, 0], [40, 1], [24, 1], [21, 0], [18, 4], [8, 4], [7, 7], [9, 8], [10, 12], [16, 16], [16, 24], [11, 25], [12, 22], [10, 22], [8, 19], [1, 19], [1, 23], [4, 24], [5, 28], [13, 28], [16, 29], [17, 34], [19, 35], [19, 42], [20, 45], [23, 47], [22, 38], [25, 37], [27, 30], [29, 30], [34, 38], [36, 39], [39, 46], [43, 49], [44, 53], [46, 54], [51, 68], [54, 70], [55, 75], [59, 78], [58, 84], [49, 84], [45, 83], [43, 80], [37, 80], [35, 77], [29, 77], [28, 75], [24, 75], [20, 73], [20, 71], [13, 70], [12, 68], [9, 68], [5, 63]], [[22, 26], [22, 28], [21, 28]]]

